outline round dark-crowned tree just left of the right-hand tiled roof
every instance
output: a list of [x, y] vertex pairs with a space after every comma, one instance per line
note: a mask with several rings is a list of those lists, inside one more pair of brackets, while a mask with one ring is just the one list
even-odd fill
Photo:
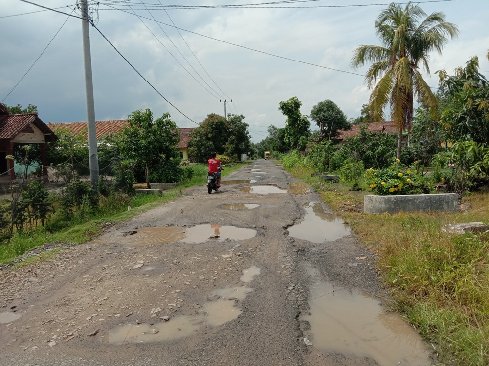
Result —
[[329, 99], [314, 105], [310, 116], [320, 128], [322, 135], [328, 136], [328, 140], [338, 136], [338, 130], [351, 128], [343, 111]]

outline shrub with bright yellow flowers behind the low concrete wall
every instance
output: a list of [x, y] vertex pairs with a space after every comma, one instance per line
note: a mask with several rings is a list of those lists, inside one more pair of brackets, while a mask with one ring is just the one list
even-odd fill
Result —
[[367, 169], [365, 182], [369, 190], [381, 196], [429, 193], [432, 186], [416, 163], [406, 167], [397, 159], [388, 168]]

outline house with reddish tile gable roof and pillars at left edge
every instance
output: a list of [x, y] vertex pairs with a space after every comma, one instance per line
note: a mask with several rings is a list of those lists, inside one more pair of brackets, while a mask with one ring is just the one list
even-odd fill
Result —
[[56, 134], [39, 118], [38, 113], [12, 114], [0, 103], [0, 180], [12, 181], [14, 162], [6, 159], [14, 154], [15, 144], [41, 145], [43, 176], [47, 177], [46, 142], [55, 141]]

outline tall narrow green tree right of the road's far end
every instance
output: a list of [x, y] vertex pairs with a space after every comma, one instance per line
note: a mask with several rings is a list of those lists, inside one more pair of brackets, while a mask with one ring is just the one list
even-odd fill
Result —
[[287, 117], [285, 121], [285, 142], [291, 149], [304, 150], [307, 138], [311, 135], [307, 116], [300, 112], [302, 102], [297, 97], [292, 97], [288, 101], [280, 101], [279, 111]]

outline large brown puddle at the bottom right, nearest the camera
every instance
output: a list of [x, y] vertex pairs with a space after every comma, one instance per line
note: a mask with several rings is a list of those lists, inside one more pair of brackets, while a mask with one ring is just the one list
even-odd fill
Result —
[[[332, 294], [334, 290], [334, 295]], [[399, 315], [365, 293], [318, 284], [311, 289], [312, 344], [324, 352], [371, 357], [380, 366], [431, 365], [428, 348]]]

